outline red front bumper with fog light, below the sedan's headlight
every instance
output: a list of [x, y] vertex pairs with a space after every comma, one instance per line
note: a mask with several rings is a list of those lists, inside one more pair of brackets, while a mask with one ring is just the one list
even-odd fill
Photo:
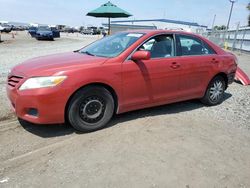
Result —
[[6, 90], [17, 117], [36, 124], [64, 123], [69, 89], [58, 86], [20, 91], [7, 86]]

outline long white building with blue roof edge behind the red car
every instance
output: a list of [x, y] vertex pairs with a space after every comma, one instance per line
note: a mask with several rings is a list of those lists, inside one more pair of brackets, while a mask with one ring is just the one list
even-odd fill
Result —
[[[103, 25], [107, 26], [107, 24]], [[112, 33], [133, 29], [178, 29], [193, 33], [202, 33], [207, 30], [207, 26], [200, 25], [195, 22], [177, 21], [169, 19], [111, 21]]]

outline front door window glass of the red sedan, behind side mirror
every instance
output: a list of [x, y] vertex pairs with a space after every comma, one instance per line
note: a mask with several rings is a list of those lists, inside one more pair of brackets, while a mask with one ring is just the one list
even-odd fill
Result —
[[151, 53], [151, 58], [164, 58], [174, 56], [174, 40], [172, 35], [159, 35], [151, 38], [139, 50]]

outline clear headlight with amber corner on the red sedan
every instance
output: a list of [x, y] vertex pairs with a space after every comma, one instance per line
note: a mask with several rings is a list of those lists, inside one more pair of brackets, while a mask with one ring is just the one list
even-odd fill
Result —
[[53, 87], [62, 83], [67, 76], [34, 77], [26, 80], [19, 90]]

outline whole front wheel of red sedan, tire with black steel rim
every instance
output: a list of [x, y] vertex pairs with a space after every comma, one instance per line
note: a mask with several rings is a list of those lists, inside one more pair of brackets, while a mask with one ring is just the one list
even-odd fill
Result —
[[114, 99], [104, 87], [87, 86], [77, 91], [67, 109], [69, 123], [77, 130], [91, 132], [106, 126], [114, 113]]

